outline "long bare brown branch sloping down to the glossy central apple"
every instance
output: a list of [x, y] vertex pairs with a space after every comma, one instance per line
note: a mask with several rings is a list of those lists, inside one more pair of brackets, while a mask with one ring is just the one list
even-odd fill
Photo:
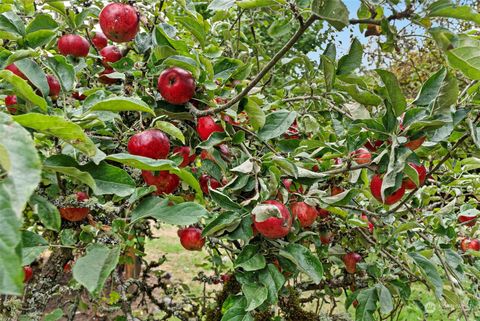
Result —
[[262, 80], [263, 77], [272, 69], [276, 63], [285, 56], [285, 54], [293, 47], [293, 45], [300, 39], [300, 37], [307, 31], [307, 29], [318, 19], [317, 16], [312, 15], [310, 18], [308, 18], [307, 21], [303, 24], [303, 26], [300, 26], [300, 28], [295, 32], [295, 34], [290, 38], [290, 40], [283, 46], [282, 49], [280, 49], [275, 56], [268, 62], [268, 64], [263, 67], [263, 69], [255, 76], [255, 78], [248, 84], [247, 87], [245, 87], [242, 92], [240, 92], [238, 95], [233, 97], [228, 103], [225, 105], [219, 106], [217, 108], [213, 109], [208, 109], [208, 110], [198, 110], [195, 106], [192, 104], [187, 104], [187, 108], [190, 109], [190, 112], [196, 116], [196, 117], [201, 117], [201, 116], [208, 116], [208, 115], [215, 115], [221, 111], [227, 110], [228, 108], [232, 107], [236, 103], [238, 103], [243, 97], [248, 95], [250, 90], [252, 90], [259, 82]]

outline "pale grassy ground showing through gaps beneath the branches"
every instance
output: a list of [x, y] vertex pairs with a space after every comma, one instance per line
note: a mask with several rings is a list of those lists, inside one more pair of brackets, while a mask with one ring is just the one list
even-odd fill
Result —
[[[190, 289], [195, 295], [200, 295], [202, 292], [202, 284], [198, 281], [192, 281], [193, 276], [196, 276], [202, 271], [211, 271], [208, 267], [210, 264], [207, 260], [207, 253], [191, 252], [183, 249], [177, 236], [177, 229], [174, 227], [163, 227], [157, 231], [157, 239], [149, 240], [146, 244], [147, 260], [157, 260], [162, 255], [166, 255], [166, 262], [162, 265], [162, 270], [170, 271], [174, 280], [179, 280], [189, 285]], [[210, 272], [212, 273], [212, 272]], [[220, 287], [209, 287], [210, 290], [219, 289]], [[401, 321], [417, 321], [417, 320], [431, 320], [431, 321], [448, 321], [457, 320], [459, 315], [454, 313], [452, 316], [447, 316], [446, 310], [443, 310], [435, 299], [435, 296], [426, 291], [424, 288], [418, 286], [412, 291], [412, 298], [418, 300], [423, 304], [428, 312], [423, 315], [422, 311], [417, 305], [410, 305], [405, 307], [398, 320]], [[329, 307], [324, 307], [324, 312], [328, 312]], [[338, 312], [343, 314], [345, 312], [342, 304], [337, 308]], [[352, 320], [355, 319], [355, 311], [350, 308], [349, 311]], [[178, 319], [169, 319], [176, 321]]]

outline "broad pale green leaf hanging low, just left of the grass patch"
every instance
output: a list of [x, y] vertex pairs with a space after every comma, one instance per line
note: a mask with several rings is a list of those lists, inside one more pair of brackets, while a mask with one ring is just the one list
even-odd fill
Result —
[[119, 246], [110, 249], [103, 244], [92, 244], [87, 248], [87, 254], [76, 260], [73, 278], [96, 295], [117, 266], [119, 257]]

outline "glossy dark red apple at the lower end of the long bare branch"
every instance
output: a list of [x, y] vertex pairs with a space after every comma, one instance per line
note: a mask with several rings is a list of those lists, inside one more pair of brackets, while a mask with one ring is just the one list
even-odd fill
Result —
[[158, 77], [158, 91], [170, 104], [183, 105], [195, 94], [195, 79], [179, 67], [165, 69]]

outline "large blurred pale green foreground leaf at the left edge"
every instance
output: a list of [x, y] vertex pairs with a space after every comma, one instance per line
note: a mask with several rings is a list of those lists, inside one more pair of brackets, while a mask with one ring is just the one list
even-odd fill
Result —
[[28, 131], [0, 112], [0, 293], [21, 295], [21, 220], [30, 195], [40, 183], [41, 163]]

